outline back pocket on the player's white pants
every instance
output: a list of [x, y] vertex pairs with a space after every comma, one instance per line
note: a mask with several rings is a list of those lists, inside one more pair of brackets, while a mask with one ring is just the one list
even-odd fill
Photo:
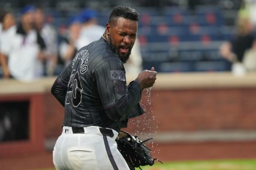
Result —
[[72, 168], [75, 170], [97, 169], [97, 160], [95, 152], [88, 149], [69, 149], [68, 160]]

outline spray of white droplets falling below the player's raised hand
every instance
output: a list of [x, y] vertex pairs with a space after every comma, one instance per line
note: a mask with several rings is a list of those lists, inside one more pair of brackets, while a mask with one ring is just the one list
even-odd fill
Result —
[[[154, 143], [154, 138], [156, 138], [157, 135], [157, 128], [159, 125], [159, 121], [156, 120], [156, 116], [153, 113], [152, 109], [152, 97], [151, 97], [151, 88], [147, 88], [147, 91], [145, 92], [145, 98], [142, 97], [142, 101], [145, 100], [145, 102], [141, 102], [141, 106], [145, 110], [145, 114], [143, 116], [139, 116], [136, 119], [131, 119], [130, 125], [135, 127], [135, 135], [138, 135], [142, 138], [153, 138], [153, 140], [148, 141], [147, 144], [150, 145], [150, 147], [153, 149], [153, 153], [160, 153], [159, 149], [154, 149], [154, 146], [158, 146]], [[142, 139], [142, 140], [145, 140]]]

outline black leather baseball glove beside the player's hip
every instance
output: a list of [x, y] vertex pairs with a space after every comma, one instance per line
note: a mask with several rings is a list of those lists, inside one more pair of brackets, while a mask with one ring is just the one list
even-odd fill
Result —
[[[145, 146], [145, 142], [152, 140], [153, 138], [148, 138], [147, 140], [141, 141], [139, 137], [132, 136], [126, 131], [120, 131], [117, 137], [117, 149], [123, 155], [129, 168], [135, 170], [135, 168], [140, 168], [140, 166], [154, 165], [154, 161], [159, 159], [153, 159], [151, 156], [151, 149]], [[161, 162], [162, 163], [162, 162]]]

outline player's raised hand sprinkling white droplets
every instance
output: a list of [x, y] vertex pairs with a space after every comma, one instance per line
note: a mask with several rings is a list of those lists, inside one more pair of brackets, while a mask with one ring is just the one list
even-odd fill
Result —
[[144, 70], [139, 73], [138, 78], [135, 81], [139, 82], [141, 89], [150, 88], [154, 85], [156, 81], [157, 72], [155, 72], [155, 68], [152, 67], [151, 70]]

